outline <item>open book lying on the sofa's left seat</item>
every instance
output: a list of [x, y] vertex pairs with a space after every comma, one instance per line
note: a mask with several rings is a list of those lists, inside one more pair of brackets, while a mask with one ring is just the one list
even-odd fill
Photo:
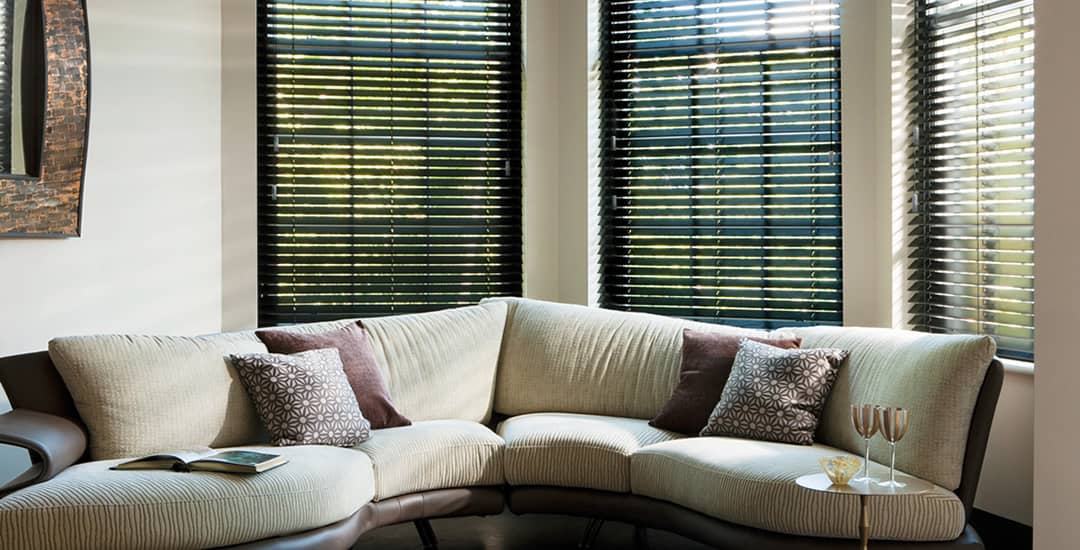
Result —
[[143, 458], [118, 464], [111, 469], [261, 473], [287, 461], [288, 459], [281, 455], [257, 453], [255, 451], [222, 451], [218, 453], [212, 448], [201, 448], [144, 456]]

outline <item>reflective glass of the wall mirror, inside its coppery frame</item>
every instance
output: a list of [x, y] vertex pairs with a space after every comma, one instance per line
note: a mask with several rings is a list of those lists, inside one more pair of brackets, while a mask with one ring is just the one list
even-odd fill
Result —
[[33, 150], [41, 147], [44, 105], [40, 28], [40, 0], [0, 0], [0, 174], [39, 173], [40, 153]]

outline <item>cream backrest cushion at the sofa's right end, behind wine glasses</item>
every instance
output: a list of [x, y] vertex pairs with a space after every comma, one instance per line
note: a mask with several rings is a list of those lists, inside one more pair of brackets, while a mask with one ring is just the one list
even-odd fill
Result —
[[[852, 404], [903, 406], [909, 427], [896, 444], [896, 468], [947, 489], [960, 485], [968, 430], [995, 344], [988, 336], [954, 336], [889, 328], [793, 328], [804, 348], [850, 352], [840, 368], [816, 439], [862, 455]], [[870, 458], [889, 464], [889, 444], [870, 442]]]

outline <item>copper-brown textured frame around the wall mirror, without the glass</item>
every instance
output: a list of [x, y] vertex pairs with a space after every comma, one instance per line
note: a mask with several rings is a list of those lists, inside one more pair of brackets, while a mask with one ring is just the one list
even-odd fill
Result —
[[[28, 118], [41, 124], [40, 137], [26, 139], [27, 147], [40, 144], [40, 165], [28, 165], [27, 172], [37, 175], [0, 175], [0, 237], [79, 237], [90, 133], [86, 3], [38, 1], [44, 42], [44, 59], [38, 61], [44, 66], [44, 90], [38, 95], [43, 97], [27, 97], [24, 86], [23, 104]], [[39, 54], [27, 51], [26, 55]], [[28, 63], [35, 61], [31, 57]], [[41, 99], [43, 109], [41, 103], [33, 105]]]

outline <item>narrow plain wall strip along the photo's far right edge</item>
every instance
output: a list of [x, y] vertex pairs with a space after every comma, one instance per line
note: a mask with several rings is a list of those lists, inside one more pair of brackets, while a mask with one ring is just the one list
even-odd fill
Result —
[[1035, 547], [1077, 548], [1080, 2], [1035, 1]]

